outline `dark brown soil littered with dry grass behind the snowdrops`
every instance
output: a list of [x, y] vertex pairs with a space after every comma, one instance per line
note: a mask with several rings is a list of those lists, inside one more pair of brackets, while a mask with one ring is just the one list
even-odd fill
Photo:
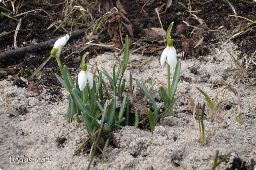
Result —
[[[111, 2], [111, 0], [106, 1]], [[99, 11], [97, 10], [99, 4], [96, 3], [95, 0], [91, 0], [91, 2], [92, 3], [90, 4], [93, 5], [91, 6], [90, 11], [92, 17], [96, 20], [105, 14], [103, 11], [104, 6], [100, 6]], [[112, 0], [112, 2], [114, 6], [117, 5], [116, 1]], [[132, 24], [132, 41], [140, 44], [141, 46], [150, 45], [144, 51], [145, 55], [155, 54], [158, 56], [159, 54], [156, 52], [164, 47], [163, 43], [158, 43], [157, 41], [151, 40], [149, 35], [145, 34], [144, 31], [145, 28], [161, 27], [157, 12], [155, 10], [156, 8], [158, 8], [160, 13], [160, 20], [164, 30], [166, 30], [168, 25], [174, 21], [174, 27], [171, 35], [174, 39], [174, 46], [177, 52], [184, 51], [184, 56], [182, 56], [184, 60], [186, 60], [188, 57], [197, 57], [198, 55], [205, 55], [209, 53], [211, 48], [214, 47], [210, 45], [227, 39], [230, 37], [232, 31], [240, 30], [242, 27], [248, 24], [248, 21], [243, 18], [229, 16], [234, 15], [234, 12], [232, 11], [231, 6], [224, 0], [200, 0], [200, 2], [191, 0], [191, 13], [188, 9], [179, 4], [178, 1], [173, 1], [172, 5], [166, 10], [165, 13], [162, 12], [164, 12], [166, 8], [166, 0], [121, 0], [120, 2], [124, 10], [127, 12], [129, 22]], [[188, 0], [180, 0], [180, 2], [188, 7]], [[71, 30], [70, 24], [64, 24], [63, 28], [57, 30], [55, 30], [55, 26], [48, 29], [48, 27], [54, 22], [64, 20], [63, 9], [66, 4], [63, 3], [62, 0], [34, 0], [23, 1], [21, 4], [16, 3], [14, 6], [18, 9], [15, 12], [11, 12], [11, 3], [9, 1], [5, 4], [1, 2], [0, 5], [10, 11], [2, 8], [0, 8], [0, 11], [9, 15], [10, 17], [21, 20], [21, 26], [17, 34], [17, 46], [19, 48], [56, 38], [67, 33], [66, 31]], [[81, 2], [81, 4], [86, 6], [89, 3], [83, 4]], [[256, 20], [256, 4], [253, 3], [252, 0], [232, 0], [231, 4], [235, 8], [238, 16], [245, 17], [252, 21]], [[28, 13], [25, 14], [25, 12]], [[203, 23], [200, 24], [198, 20], [194, 19], [192, 14], [196, 15], [199, 19], [202, 19], [201, 21], [203, 21]], [[72, 16], [72, 19], [76, 22], [87, 24], [85, 23], [86, 19], [81, 19], [81, 15], [79, 16], [78, 13], [75, 13]], [[112, 19], [112, 17], [113, 15], [110, 15], [108, 19]], [[191, 26], [186, 26], [185, 24], [179, 25], [184, 22]], [[0, 53], [9, 49], [14, 49], [14, 32], [17, 24], [17, 21], [0, 15]], [[116, 41], [115, 37], [111, 37], [109, 32], [113, 30], [109, 30], [109, 24], [110, 23], [105, 24], [103, 32], [97, 36], [97, 41], [95, 43], [121, 42], [120, 39]], [[226, 29], [227, 34], [229, 35], [217, 36], [218, 34], [216, 34], [216, 32], [218, 32], [220, 26], [224, 26], [222, 29]], [[252, 26], [255, 26], [255, 24], [251, 25], [251, 27]], [[85, 26], [75, 24], [74, 27], [76, 29], [81, 29]], [[194, 27], [199, 29], [193, 30]], [[64, 31], [64, 29], [66, 31]], [[113, 29], [113, 27], [111, 27], [111, 29]], [[119, 30], [115, 31], [119, 32]], [[128, 31], [126, 29], [122, 29], [121, 31], [124, 38]], [[238, 45], [240, 50], [244, 51], [240, 57], [243, 57], [244, 54], [253, 54], [256, 47], [255, 38], [256, 31], [254, 29], [232, 39]], [[200, 39], [203, 39], [202, 43], [194, 49], [193, 47], [199, 42]], [[88, 42], [88, 40], [86, 39], [86, 36], [83, 36], [80, 37], [80, 39], [69, 41], [64, 49], [64, 56], [67, 56], [72, 52], [80, 51], [71, 55], [69, 58], [62, 60], [65, 65], [67, 65], [69, 68], [73, 68], [74, 71], [80, 69], [79, 58], [85, 51], [91, 52], [89, 55], [90, 58], [99, 53], [110, 50], [104, 48], [87, 48], [85, 50], [81, 50], [77, 47], [78, 44], [83, 45], [86, 42]], [[120, 46], [122, 45], [120, 44]], [[136, 49], [138, 46], [132, 45], [131, 48]], [[28, 78], [33, 71], [49, 56], [50, 50], [50, 48], [38, 49], [37, 51], [32, 51], [30, 54], [27, 53], [18, 56], [11, 56], [0, 61], [0, 69], [4, 69], [6, 71], [6, 73], [0, 74], [0, 79], [6, 79], [8, 75], [19, 77], [21, 75], [21, 70], [23, 71], [23, 76]], [[51, 59], [42, 69], [40, 79], [41, 84], [52, 88], [58, 86], [59, 83], [55, 78], [54, 73], [59, 73], [59, 70], [57, 68], [55, 59]]]

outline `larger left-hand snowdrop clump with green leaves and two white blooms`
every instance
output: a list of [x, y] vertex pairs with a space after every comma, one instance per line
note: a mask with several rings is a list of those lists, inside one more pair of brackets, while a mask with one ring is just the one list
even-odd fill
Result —
[[[67, 40], [68, 38], [66, 41]], [[57, 40], [57, 42], [58, 41], [59, 40]], [[81, 64], [81, 72], [84, 73], [82, 73], [82, 78], [79, 79], [78, 76], [75, 81], [71, 78], [68, 68], [66, 66], [62, 66], [60, 61], [61, 51], [66, 41], [64, 41], [64, 43], [61, 42], [61, 46], [57, 46], [56, 44], [58, 43], [56, 43], [51, 51], [51, 56], [56, 58], [62, 74], [62, 76], [59, 76], [58, 74], [55, 75], [69, 93], [68, 111], [63, 115], [66, 115], [68, 122], [71, 122], [73, 120], [73, 116], [76, 116], [77, 121], [82, 121], [86, 126], [90, 139], [87, 140], [86, 143], [90, 142], [92, 146], [91, 161], [88, 166], [89, 169], [93, 161], [94, 154], [96, 153], [96, 148], [99, 147], [103, 149], [106, 147], [106, 145], [108, 145], [107, 141], [110, 138], [110, 132], [115, 128], [122, 128], [121, 123], [125, 120], [123, 115], [125, 108], [128, 106], [128, 98], [123, 96], [126, 82], [123, 77], [128, 65], [129, 40], [127, 36], [124, 59], [120, 61], [117, 73], [115, 71], [116, 66], [113, 68], [112, 76], [107, 73], [104, 68], [102, 68], [102, 72], [96, 68], [94, 78], [90, 79], [91, 75], [88, 73], [86, 63], [84, 62], [88, 53], [85, 53], [82, 57]], [[41, 69], [41, 67], [39, 69]], [[109, 92], [106, 83], [102, 79], [102, 73], [108, 78], [112, 93]], [[83, 85], [83, 88], [81, 88], [79, 87], [79, 81], [84, 81], [84, 78], [89, 80], [89, 82], [88, 80], [85, 82], [86, 84], [89, 83], [89, 85], [83, 84], [84, 82], [80, 82], [80, 85]], [[90, 83], [90, 81], [93, 81], [93, 84]], [[104, 105], [101, 104], [101, 101], [103, 100], [103, 88], [105, 88], [107, 94], [107, 99]], [[123, 98], [122, 105], [120, 110], [117, 111], [117, 99], [121, 98]], [[84, 145], [85, 143], [83, 146]]]

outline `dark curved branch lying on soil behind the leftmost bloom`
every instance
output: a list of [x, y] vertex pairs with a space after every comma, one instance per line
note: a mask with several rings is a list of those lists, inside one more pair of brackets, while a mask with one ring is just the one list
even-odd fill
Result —
[[[75, 39], [83, 34], [85, 34], [85, 28], [84, 29], [77, 29], [74, 30], [73, 32], [69, 33], [68, 35], [70, 36], [70, 39]], [[65, 34], [64, 34], [65, 35]], [[25, 54], [28, 52], [32, 52], [32, 51], [36, 51], [36, 50], [40, 50], [40, 49], [47, 49], [47, 48], [52, 48], [55, 41], [58, 40], [59, 38], [63, 37], [59, 36], [57, 38], [42, 42], [42, 43], [38, 43], [38, 44], [34, 44], [31, 46], [27, 46], [27, 47], [22, 47], [19, 49], [11, 49], [11, 50], [7, 50], [5, 52], [0, 53], [0, 60], [4, 60], [7, 59], [9, 57], [18, 57], [21, 54]]]

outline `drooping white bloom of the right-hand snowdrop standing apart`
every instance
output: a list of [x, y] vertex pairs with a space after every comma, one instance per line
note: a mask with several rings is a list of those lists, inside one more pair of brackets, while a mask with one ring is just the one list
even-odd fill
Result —
[[177, 64], [177, 53], [173, 46], [167, 46], [161, 54], [160, 64], [163, 67], [165, 61], [170, 65], [171, 69], [174, 70]]

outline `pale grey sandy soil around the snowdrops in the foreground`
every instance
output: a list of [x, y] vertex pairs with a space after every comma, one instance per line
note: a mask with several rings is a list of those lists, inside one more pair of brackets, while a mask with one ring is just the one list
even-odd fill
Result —
[[[220, 151], [220, 158], [232, 151], [218, 167], [220, 170], [256, 169], [256, 87], [246, 85], [242, 79], [233, 81], [238, 72], [226, 71], [231, 67], [236, 68], [227, 50], [234, 56], [241, 52], [232, 42], [225, 41], [211, 50], [211, 55], [182, 61], [183, 78], [176, 93], [178, 99], [174, 116], [162, 118], [153, 135], [149, 131], [130, 126], [116, 131], [114, 136], [119, 145], [107, 147], [104, 164], [100, 163], [101, 156], [97, 155], [93, 169], [210, 170], [216, 150]], [[146, 82], [157, 77], [152, 91], [155, 97], [159, 96], [154, 90], [157, 91], [160, 84], [166, 85], [167, 82], [166, 68], [160, 67], [159, 56], [152, 56], [152, 62], [134, 69], [133, 66], [137, 67], [149, 58], [132, 54], [126, 72], [127, 77], [131, 71], [134, 78]], [[113, 54], [105, 53], [92, 58], [88, 68], [93, 71], [97, 63], [99, 68], [104, 67], [110, 72], [114, 62]], [[221, 81], [230, 83], [230, 88], [224, 89]], [[195, 101], [198, 94], [196, 87], [204, 90], [211, 98], [218, 95], [218, 101], [222, 98], [224, 104], [217, 117], [204, 121], [206, 145], [200, 144], [198, 129], [186, 106], [190, 98]], [[140, 91], [139, 88], [137, 91]], [[87, 168], [89, 154], [75, 154], [75, 150], [88, 137], [85, 126], [75, 120], [68, 124], [65, 117], [58, 114], [66, 112], [68, 107], [64, 89], [63, 99], [55, 103], [48, 101], [51, 96], [46, 92], [47, 89], [43, 89], [37, 97], [26, 88], [12, 85], [8, 79], [0, 81], [0, 97], [7, 103], [5, 105], [0, 101], [0, 169]], [[206, 102], [202, 95], [199, 95], [199, 101], [201, 105]], [[239, 103], [242, 123], [237, 122], [238, 111], [234, 109]], [[37, 159], [39, 163], [36, 158], [40, 159]]]

